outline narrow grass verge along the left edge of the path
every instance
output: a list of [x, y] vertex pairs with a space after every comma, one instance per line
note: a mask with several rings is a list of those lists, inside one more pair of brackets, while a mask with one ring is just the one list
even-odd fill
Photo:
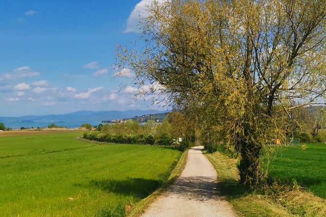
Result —
[[175, 164], [170, 167], [171, 173], [169, 179], [156, 191], [154, 191], [150, 196], [145, 199], [140, 200], [134, 208], [129, 213], [128, 217], [139, 217], [144, 211], [148, 208], [148, 206], [159, 197], [173, 182], [180, 176], [182, 170], [185, 168], [187, 163], [188, 150], [184, 151], [178, 161], [175, 161]]

